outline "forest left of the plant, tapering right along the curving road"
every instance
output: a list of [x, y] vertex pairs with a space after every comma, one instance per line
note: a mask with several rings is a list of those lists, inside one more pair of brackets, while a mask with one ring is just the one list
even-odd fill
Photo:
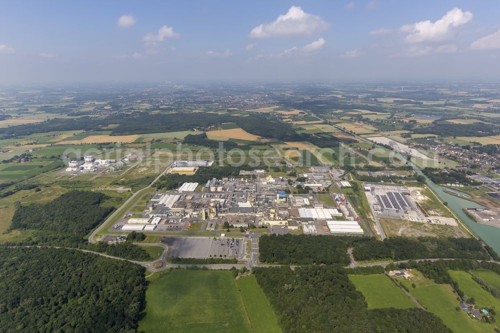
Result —
[[28, 238], [16, 245], [57, 245], [103, 252], [127, 259], [150, 260], [150, 255], [130, 242], [88, 243], [84, 237], [113, 210], [102, 206], [107, 198], [99, 192], [70, 191], [47, 203], [19, 205], [11, 229], [31, 230]]

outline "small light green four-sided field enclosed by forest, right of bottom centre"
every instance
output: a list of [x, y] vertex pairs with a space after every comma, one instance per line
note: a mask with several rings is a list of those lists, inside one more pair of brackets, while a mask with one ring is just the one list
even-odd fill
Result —
[[416, 304], [385, 274], [349, 275], [349, 279], [361, 291], [368, 308], [410, 308]]

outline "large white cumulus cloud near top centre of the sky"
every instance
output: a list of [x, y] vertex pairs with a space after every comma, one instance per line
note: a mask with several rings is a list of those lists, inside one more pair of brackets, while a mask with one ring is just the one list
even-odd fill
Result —
[[311, 35], [328, 27], [318, 15], [306, 13], [302, 8], [291, 6], [284, 15], [274, 21], [255, 26], [250, 31], [251, 38], [267, 38], [274, 36]]

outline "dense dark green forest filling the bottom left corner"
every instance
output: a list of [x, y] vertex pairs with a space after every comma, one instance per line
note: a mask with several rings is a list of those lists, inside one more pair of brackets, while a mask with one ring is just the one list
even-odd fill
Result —
[[77, 250], [0, 248], [0, 330], [133, 332], [144, 268]]

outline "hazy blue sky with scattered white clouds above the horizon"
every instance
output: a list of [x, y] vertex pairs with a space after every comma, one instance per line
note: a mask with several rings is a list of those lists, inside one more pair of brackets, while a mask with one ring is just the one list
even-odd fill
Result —
[[500, 74], [500, 1], [3, 1], [0, 83]]

